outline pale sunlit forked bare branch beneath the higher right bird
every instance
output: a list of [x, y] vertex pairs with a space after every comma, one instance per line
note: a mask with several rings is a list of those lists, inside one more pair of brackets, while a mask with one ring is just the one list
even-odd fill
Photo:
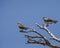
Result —
[[60, 38], [56, 38], [51, 32], [50, 30], [47, 28], [46, 24], [44, 26], [41, 26], [40, 24], [36, 23], [36, 25], [40, 28], [43, 29], [45, 31], [47, 31], [47, 33], [51, 36], [51, 39], [60, 42]]

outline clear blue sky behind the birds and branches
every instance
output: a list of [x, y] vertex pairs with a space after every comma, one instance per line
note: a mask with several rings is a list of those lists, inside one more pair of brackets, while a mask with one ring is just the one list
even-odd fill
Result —
[[[39, 30], [35, 23], [43, 25], [43, 17], [58, 21], [57, 24], [50, 25], [49, 29], [59, 38], [60, 0], [0, 0], [0, 48], [48, 48], [38, 44], [25, 44], [27, 39], [19, 32], [17, 25], [22, 22]], [[45, 31], [39, 31], [47, 38], [50, 37]], [[60, 45], [55, 41], [51, 43]]]

